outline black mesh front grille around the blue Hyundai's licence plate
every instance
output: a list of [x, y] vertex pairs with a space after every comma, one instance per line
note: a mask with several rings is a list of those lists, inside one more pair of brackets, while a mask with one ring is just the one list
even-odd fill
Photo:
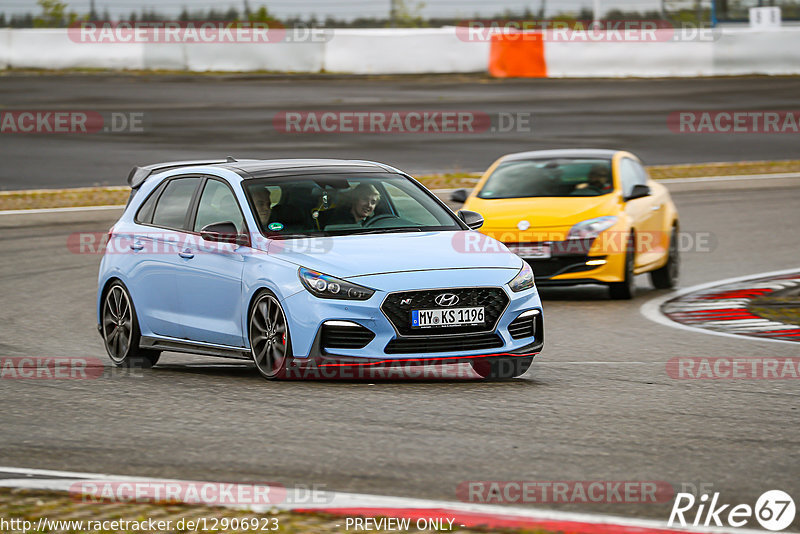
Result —
[[[444, 308], [434, 302], [442, 293], [458, 296], [454, 307], [483, 306], [484, 324], [467, 326], [444, 326], [433, 328], [411, 328], [411, 311]], [[474, 334], [491, 332], [508, 305], [508, 296], [499, 287], [465, 287], [455, 289], [423, 289], [391, 293], [381, 304], [381, 311], [394, 325], [401, 336], [431, 336], [448, 334]]]

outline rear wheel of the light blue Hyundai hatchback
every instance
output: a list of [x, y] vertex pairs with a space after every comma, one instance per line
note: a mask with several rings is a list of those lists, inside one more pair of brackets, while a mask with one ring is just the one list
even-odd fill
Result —
[[121, 282], [114, 282], [103, 295], [100, 324], [103, 344], [117, 367], [149, 369], [158, 363], [161, 351], [143, 349], [136, 308]]

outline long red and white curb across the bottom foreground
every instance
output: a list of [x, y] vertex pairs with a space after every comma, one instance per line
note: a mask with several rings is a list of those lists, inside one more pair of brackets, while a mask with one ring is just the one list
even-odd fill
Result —
[[[106, 475], [98, 473], [78, 473], [47, 469], [27, 469], [0, 467], [0, 487], [63, 491], [76, 494], [80, 481], [94, 483], [180, 483], [218, 484], [210, 482], [180, 481]], [[246, 484], [237, 484], [255, 488]], [[309, 498], [308, 489], [274, 487], [280, 494], [281, 502], [268, 505], [259, 504], [220, 504], [219, 502], [198, 502], [180, 500], [187, 504], [224, 506], [226, 508], [250, 510], [264, 513], [270, 510], [286, 510], [297, 513], [326, 513], [342, 517], [391, 517], [410, 520], [442, 520], [442, 524], [453, 527], [483, 527], [488, 529], [541, 529], [563, 534], [670, 534], [670, 533], [708, 533], [708, 534], [763, 534], [764, 531], [738, 528], [680, 528], [667, 527], [666, 519], [636, 519], [602, 514], [557, 512], [536, 508], [507, 507], [489, 504], [434, 501], [406, 497], [388, 497], [358, 493], [316, 491]], [[252, 492], [255, 493], [255, 490]], [[171, 501], [174, 502], [174, 501]], [[413, 524], [413, 523], [412, 523]]]

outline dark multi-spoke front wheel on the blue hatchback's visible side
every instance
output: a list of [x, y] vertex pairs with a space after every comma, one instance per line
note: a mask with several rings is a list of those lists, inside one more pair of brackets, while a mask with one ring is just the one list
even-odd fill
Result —
[[264, 291], [253, 302], [247, 326], [250, 354], [267, 380], [286, 378], [292, 361], [292, 341], [286, 314], [277, 297]]

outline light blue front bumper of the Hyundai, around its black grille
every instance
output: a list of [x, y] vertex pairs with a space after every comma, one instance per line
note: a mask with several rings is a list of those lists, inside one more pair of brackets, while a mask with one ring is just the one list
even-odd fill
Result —
[[[508, 357], [533, 355], [541, 350], [544, 326], [542, 307], [536, 289], [513, 293], [505, 285], [498, 285], [497, 278], [502, 280], [513, 277], [514, 272], [498, 273], [497, 270], [483, 272], [464, 270], [441, 272], [423, 275], [422, 273], [404, 273], [393, 276], [393, 287], [376, 291], [366, 301], [344, 301], [318, 299], [307, 291], [296, 293], [283, 301], [284, 310], [289, 320], [292, 339], [292, 353], [296, 364], [302, 360], [320, 361], [335, 360], [344, 363], [369, 363], [370, 365], [437, 363], [475, 358]], [[422, 277], [425, 276], [425, 279]], [[433, 277], [436, 276], [436, 279]], [[493, 279], [490, 283], [490, 277]], [[449, 283], [445, 283], [445, 280]], [[354, 280], [359, 282], [359, 280]], [[416, 282], [416, 283], [414, 283]], [[377, 284], [366, 283], [368, 287]], [[482, 332], [448, 330], [446, 333], [433, 330], [414, 332], [414, 335], [398, 331], [381, 309], [387, 296], [414, 290], [447, 291], [457, 288], [475, 287], [499, 288], [507, 304], [496, 320], [493, 328]], [[538, 314], [535, 337], [530, 334], [520, 335], [515, 320], [525, 313]], [[395, 318], [395, 321], [397, 319]], [[363, 342], [357, 346], [348, 343], [335, 345], [323, 343], [323, 325], [351, 323], [362, 327], [358, 333]], [[509, 331], [509, 328], [511, 331]], [[368, 330], [369, 332], [365, 332]], [[513, 335], [512, 335], [513, 334]], [[327, 335], [327, 334], [326, 334]], [[338, 333], [340, 341], [341, 332]], [[450, 344], [450, 341], [453, 341]], [[384, 363], [385, 362], [385, 363]]]

